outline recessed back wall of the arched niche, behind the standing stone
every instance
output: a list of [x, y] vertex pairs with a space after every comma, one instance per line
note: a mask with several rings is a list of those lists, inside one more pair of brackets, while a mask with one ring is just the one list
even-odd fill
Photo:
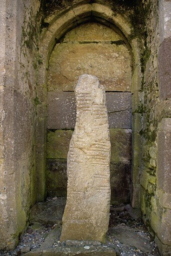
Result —
[[[66, 195], [66, 158], [76, 120], [73, 91], [79, 75], [93, 74], [98, 76], [107, 91], [112, 144], [111, 202], [130, 202], [131, 63], [124, 38], [99, 23], [79, 25], [57, 41], [50, 56], [47, 78], [46, 173], [49, 195]], [[97, 120], [99, 118], [96, 116]]]

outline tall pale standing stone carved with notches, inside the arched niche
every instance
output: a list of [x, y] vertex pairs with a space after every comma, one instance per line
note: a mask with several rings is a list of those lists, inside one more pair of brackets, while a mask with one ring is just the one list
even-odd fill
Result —
[[75, 88], [77, 119], [67, 156], [67, 202], [61, 241], [105, 242], [110, 210], [110, 137], [105, 89], [83, 74]]

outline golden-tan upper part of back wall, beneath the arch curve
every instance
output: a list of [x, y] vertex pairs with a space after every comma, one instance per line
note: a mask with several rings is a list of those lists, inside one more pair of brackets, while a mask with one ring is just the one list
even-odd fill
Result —
[[49, 60], [48, 90], [74, 91], [81, 74], [97, 75], [106, 91], [130, 91], [131, 58], [122, 36], [94, 22], [66, 33]]

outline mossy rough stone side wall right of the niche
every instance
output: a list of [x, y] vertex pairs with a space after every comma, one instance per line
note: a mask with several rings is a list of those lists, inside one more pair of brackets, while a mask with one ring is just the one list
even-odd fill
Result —
[[[148, 1], [142, 101], [140, 207], [162, 255], [171, 253], [171, 2]], [[170, 80], [170, 82], [169, 82]], [[143, 122], [142, 122], [143, 120]], [[137, 123], [134, 125], [136, 126]]]

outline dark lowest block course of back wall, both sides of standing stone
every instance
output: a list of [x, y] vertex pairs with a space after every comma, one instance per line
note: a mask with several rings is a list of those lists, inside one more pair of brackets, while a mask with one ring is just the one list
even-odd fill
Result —
[[[111, 162], [110, 171], [111, 204], [130, 202], [131, 162]], [[47, 160], [46, 181], [49, 196], [66, 196], [66, 160]]]

